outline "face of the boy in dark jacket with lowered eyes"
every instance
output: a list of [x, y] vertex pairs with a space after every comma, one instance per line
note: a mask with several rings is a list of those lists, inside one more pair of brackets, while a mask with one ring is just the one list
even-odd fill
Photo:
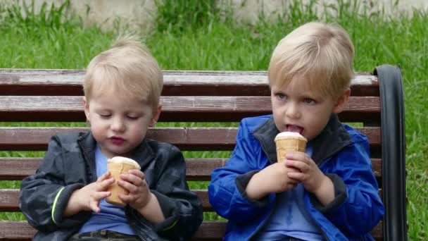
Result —
[[137, 99], [116, 99], [112, 92], [84, 99], [84, 113], [91, 123], [92, 135], [107, 157], [128, 156], [146, 136], [149, 126], [157, 121], [160, 106]]

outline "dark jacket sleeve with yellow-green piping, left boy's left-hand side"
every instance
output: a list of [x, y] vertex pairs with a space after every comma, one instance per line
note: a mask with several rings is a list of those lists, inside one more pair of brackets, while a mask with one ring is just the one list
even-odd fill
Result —
[[37, 230], [52, 232], [68, 228], [80, 224], [81, 216], [86, 215], [62, 217], [71, 193], [83, 186], [80, 183], [66, 185], [64, 171], [61, 143], [53, 136], [36, 173], [25, 178], [20, 187], [20, 209]]

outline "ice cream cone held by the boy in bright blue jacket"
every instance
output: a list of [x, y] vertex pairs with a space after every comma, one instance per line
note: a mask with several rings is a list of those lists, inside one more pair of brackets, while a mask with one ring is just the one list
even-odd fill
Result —
[[306, 138], [298, 132], [281, 132], [275, 137], [278, 162], [285, 161], [288, 152], [305, 152]]

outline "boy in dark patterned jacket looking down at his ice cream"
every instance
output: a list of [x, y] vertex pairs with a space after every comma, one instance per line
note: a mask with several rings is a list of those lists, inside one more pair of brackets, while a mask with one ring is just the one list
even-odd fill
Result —
[[[83, 81], [89, 132], [54, 135], [37, 172], [21, 183], [20, 208], [34, 240], [187, 240], [202, 222], [177, 147], [146, 138], [160, 115], [163, 75], [134, 37], [92, 59]], [[139, 163], [113, 180], [107, 159]], [[106, 202], [114, 182], [126, 206]]]

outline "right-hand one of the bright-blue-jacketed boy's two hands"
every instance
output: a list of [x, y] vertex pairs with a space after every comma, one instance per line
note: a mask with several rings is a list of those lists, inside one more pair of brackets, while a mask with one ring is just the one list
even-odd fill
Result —
[[315, 161], [308, 154], [303, 152], [289, 152], [285, 157], [287, 158], [285, 161], [287, 167], [298, 170], [289, 172], [288, 177], [302, 182], [303, 187], [308, 192], [317, 192], [317, 190], [320, 190], [325, 178], [329, 179], [322, 173]]

